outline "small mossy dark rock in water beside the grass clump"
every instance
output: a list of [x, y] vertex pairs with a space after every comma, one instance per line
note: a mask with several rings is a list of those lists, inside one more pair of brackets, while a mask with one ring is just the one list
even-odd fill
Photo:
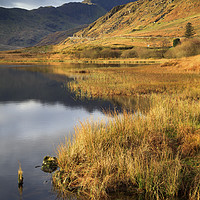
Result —
[[42, 162], [42, 171], [52, 173], [58, 168], [58, 160], [56, 157], [45, 156]]

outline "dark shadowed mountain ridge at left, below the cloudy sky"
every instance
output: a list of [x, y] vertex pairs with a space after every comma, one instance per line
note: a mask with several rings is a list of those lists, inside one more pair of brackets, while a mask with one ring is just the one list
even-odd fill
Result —
[[106, 10], [98, 5], [66, 3], [59, 7], [40, 7], [34, 10], [0, 7], [1, 47], [32, 46], [44, 36], [89, 24]]

